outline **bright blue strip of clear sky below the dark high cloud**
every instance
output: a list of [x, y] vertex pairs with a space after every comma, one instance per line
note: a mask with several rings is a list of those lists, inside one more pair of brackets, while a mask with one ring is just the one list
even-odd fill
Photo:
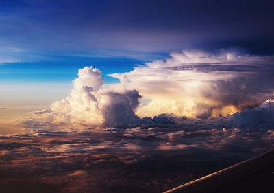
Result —
[[93, 65], [103, 71], [106, 83], [118, 82], [108, 73], [130, 71], [145, 60], [135, 58], [99, 57], [56, 57], [56, 60], [14, 62], [0, 65], [0, 82], [71, 82], [77, 77], [78, 69]]

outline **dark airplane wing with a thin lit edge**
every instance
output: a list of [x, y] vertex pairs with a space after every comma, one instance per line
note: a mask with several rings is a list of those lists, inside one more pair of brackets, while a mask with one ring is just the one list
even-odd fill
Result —
[[274, 150], [164, 193], [274, 192]]

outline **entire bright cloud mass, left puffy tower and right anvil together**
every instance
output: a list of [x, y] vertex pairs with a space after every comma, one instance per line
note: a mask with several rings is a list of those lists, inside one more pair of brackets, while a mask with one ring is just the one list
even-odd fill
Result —
[[133, 71], [110, 74], [119, 78], [118, 84], [103, 84], [99, 69], [84, 67], [66, 99], [36, 114], [47, 115], [53, 123], [93, 126], [128, 126], [163, 113], [192, 119], [232, 115], [229, 120], [236, 122], [247, 111], [234, 113], [273, 98], [273, 59], [185, 50]]

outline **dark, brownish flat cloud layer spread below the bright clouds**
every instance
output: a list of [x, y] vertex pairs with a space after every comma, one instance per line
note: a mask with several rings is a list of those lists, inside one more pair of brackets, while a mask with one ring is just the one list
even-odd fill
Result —
[[[106, 185], [123, 192], [131, 184], [135, 189], [127, 188], [129, 192], [136, 190], [136, 184], [145, 190], [137, 192], [163, 192], [174, 183], [270, 150], [274, 133], [240, 128], [112, 128], [77, 133], [31, 130], [0, 139], [2, 184], [14, 177], [35, 177], [61, 184], [61, 192], [68, 185], [73, 192], [113, 192], [104, 191]], [[155, 186], [160, 189], [152, 191]]]

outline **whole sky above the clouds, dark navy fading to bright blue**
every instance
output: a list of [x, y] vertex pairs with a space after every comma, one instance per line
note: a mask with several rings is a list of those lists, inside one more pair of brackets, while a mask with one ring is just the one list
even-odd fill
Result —
[[37, 84], [47, 84], [56, 93], [45, 99], [48, 105], [65, 95], [52, 84], [69, 88], [77, 69], [86, 65], [99, 68], [112, 83], [118, 80], [108, 73], [130, 71], [183, 49], [272, 55], [272, 10], [272, 1], [3, 0], [1, 89], [23, 84], [29, 91], [18, 100], [10, 99], [7, 89], [0, 102], [41, 103], [35, 101], [42, 95], [29, 95], [35, 95]]

